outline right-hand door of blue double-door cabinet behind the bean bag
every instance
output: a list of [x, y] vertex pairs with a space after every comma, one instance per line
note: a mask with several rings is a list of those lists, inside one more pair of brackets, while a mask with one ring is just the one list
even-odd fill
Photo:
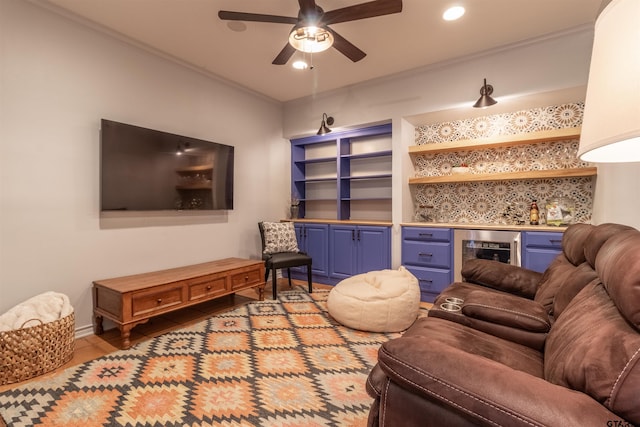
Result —
[[391, 268], [391, 232], [388, 227], [359, 226], [356, 230], [357, 273]]

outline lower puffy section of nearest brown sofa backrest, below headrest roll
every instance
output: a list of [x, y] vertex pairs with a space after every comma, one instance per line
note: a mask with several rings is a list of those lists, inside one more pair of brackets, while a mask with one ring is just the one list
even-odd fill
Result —
[[640, 334], [601, 283], [585, 286], [558, 317], [544, 366], [547, 381], [586, 393], [640, 424]]

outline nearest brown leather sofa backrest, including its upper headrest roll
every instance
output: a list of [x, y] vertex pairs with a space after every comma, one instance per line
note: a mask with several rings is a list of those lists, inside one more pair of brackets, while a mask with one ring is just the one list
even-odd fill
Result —
[[598, 279], [569, 302], [545, 345], [545, 378], [640, 424], [640, 232], [608, 238]]

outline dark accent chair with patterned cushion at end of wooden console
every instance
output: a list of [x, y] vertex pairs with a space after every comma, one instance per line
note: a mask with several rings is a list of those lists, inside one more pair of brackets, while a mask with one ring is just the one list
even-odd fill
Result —
[[309, 292], [313, 292], [311, 279], [312, 259], [298, 248], [295, 228], [292, 222], [259, 222], [260, 239], [262, 240], [262, 259], [265, 265], [266, 281], [271, 272], [273, 299], [278, 296], [277, 270], [286, 268], [291, 287], [291, 267], [307, 267]]

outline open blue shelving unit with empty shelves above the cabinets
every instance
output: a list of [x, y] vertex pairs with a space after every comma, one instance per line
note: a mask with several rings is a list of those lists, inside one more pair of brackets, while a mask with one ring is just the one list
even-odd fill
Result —
[[372, 213], [390, 220], [391, 147], [391, 124], [292, 139], [291, 195], [300, 218], [333, 211], [338, 220]]

